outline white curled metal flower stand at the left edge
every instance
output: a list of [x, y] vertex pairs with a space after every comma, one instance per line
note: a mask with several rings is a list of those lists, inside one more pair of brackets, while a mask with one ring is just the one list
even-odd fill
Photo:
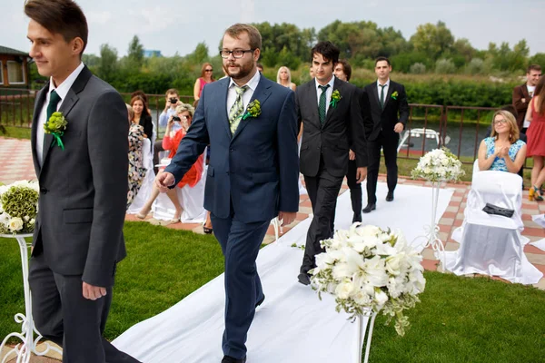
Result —
[[[28, 363], [30, 361], [30, 357], [32, 356], [32, 353], [34, 353], [36, 356], [45, 356], [45, 354], [47, 354], [50, 351], [55, 351], [59, 354], [62, 354], [61, 350], [49, 345], [49, 343], [45, 343], [45, 349], [43, 351], [36, 350], [36, 346], [38, 345], [38, 342], [40, 341], [42, 336], [35, 329], [34, 320], [32, 319], [32, 304], [31, 304], [31, 298], [30, 298], [30, 287], [28, 286], [28, 247], [29, 245], [26, 243], [26, 240], [25, 240], [26, 237], [32, 237], [32, 234], [17, 234], [17, 235], [0, 234], [0, 237], [13, 238], [13, 239], [16, 239], [17, 242], [19, 243], [19, 250], [21, 252], [21, 265], [23, 270], [23, 286], [25, 289], [25, 314], [22, 314], [22, 313], [15, 314], [15, 322], [21, 324], [21, 332], [20, 333], [14, 332], [14, 333], [8, 334], [2, 341], [2, 345], [0, 346], [0, 348], [5, 346], [5, 343], [7, 343], [7, 340], [9, 338], [18, 338], [22, 341], [22, 343], [19, 343], [15, 345], [14, 348], [8, 350], [4, 356], [4, 359], [2, 359], [2, 363], [5, 363], [8, 360], [15, 358], [15, 356], [17, 358], [16, 363]], [[35, 338], [35, 335], [36, 335], [36, 338]]]

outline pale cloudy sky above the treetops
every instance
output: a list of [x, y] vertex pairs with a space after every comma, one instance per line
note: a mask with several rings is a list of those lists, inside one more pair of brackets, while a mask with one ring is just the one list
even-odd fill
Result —
[[[373, 21], [392, 26], [406, 39], [416, 27], [441, 20], [456, 38], [468, 38], [478, 49], [489, 42], [526, 39], [530, 54], [545, 53], [545, 0], [77, 0], [87, 16], [89, 44], [85, 53], [99, 54], [110, 44], [127, 53], [137, 34], [145, 49], [163, 55], [193, 52], [205, 42], [215, 52], [223, 30], [236, 22], [292, 23], [319, 31], [336, 19]], [[0, 0], [0, 45], [28, 51], [28, 19], [24, 0]]]

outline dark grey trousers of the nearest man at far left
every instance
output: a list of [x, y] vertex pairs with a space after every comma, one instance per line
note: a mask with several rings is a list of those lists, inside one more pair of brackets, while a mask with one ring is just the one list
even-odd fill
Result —
[[101, 299], [84, 299], [82, 275], [60, 275], [32, 256], [28, 282], [36, 329], [63, 347], [64, 363], [138, 363], [115, 348], [102, 333], [112, 303], [112, 289]]

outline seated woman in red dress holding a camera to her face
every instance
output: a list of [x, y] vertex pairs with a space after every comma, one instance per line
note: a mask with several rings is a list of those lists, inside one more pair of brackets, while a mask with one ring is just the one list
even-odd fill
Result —
[[[182, 141], [183, 136], [185, 136], [185, 134], [187, 133], [187, 129], [189, 129], [189, 126], [191, 125], [191, 122], [193, 120], [193, 113], [194, 109], [191, 104], [182, 103], [176, 107], [177, 116], [172, 115], [168, 119], [166, 131], [164, 132], [163, 149], [170, 151], [170, 154], [168, 155], [169, 158], [172, 159], [178, 151], [178, 145]], [[173, 123], [181, 123], [182, 127], [178, 131], [172, 132]], [[202, 176], [203, 155], [200, 155], [197, 161], [191, 167], [191, 169], [186, 172], [185, 175], [183, 175], [182, 180], [178, 183], [177, 186], [178, 188], [183, 188], [185, 185], [193, 187], [201, 180]], [[144, 220], [144, 218], [152, 210], [152, 205], [154, 204], [154, 201], [155, 199], [157, 199], [158, 195], [159, 189], [154, 184], [154, 189], [152, 190], [150, 198], [148, 199], [148, 201], [146, 201], [144, 207], [142, 207], [142, 210], [136, 214], [136, 217]], [[180, 204], [180, 201], [178, 201], [176, 190], [170, 189], [166, 192], [166, 195], [173, 202], [174, 208], [176, 209], [172, 222], [178, 222], [180, 221], [180, 218], [182, 216], [183, 208]]]

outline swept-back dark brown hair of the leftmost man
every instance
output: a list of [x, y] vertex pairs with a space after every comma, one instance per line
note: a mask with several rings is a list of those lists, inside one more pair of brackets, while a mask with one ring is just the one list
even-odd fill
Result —
[[89, 28], [79, 5], [72, 0], [26, 0], [25, 14], [52, 34], [63, 35], [66, 43], [79, 37], [87, 45]]

